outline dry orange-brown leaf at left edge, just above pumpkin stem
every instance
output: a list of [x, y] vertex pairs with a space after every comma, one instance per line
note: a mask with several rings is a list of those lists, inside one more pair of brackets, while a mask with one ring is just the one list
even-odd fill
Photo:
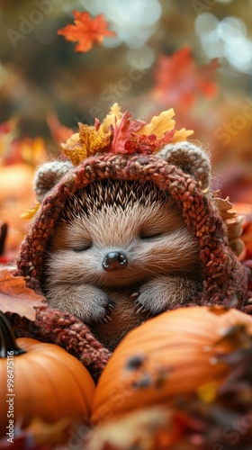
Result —
[[0, 311], [13, 312], [35, 320], [34, 308], [43, 306], [44, 297], [25, 286], [23, 276], [14, 276], [11, 270], [0, 270]]

